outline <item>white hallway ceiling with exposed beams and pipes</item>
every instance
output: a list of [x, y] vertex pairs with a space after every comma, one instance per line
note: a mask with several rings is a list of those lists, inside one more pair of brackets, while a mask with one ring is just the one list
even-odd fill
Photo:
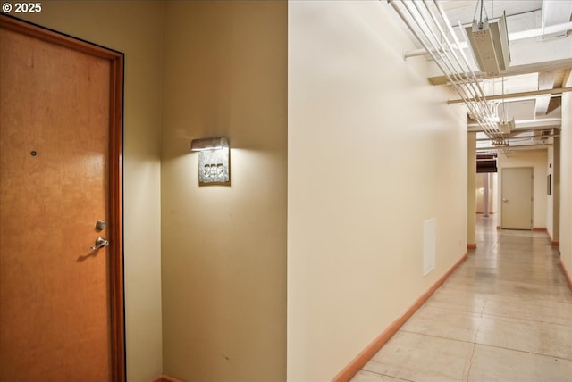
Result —
[[[480, 1], [442, 0], [439, 4], [458, 39], [464, 42], [464, 34], [458, 26], [460, 24], [467, 27], [474, 19], [479, 20]], [[462, 50], [475, 71], [475, 77], [484, 95], [497, 98], [489, 98], [487, 102], [493, 104], [494, 110], [498, 111], [498, 119], [515, 120], [515, 129], [503, 136], [506, 145], [502, 146], [502, 151], [551, 145], [553, 137], [558, 137], [561, 125], [560, 94], [519, 97], [514, 95], [562, 87], [565, 76], [572, 68], [572, 0], [484, 0], [482, 10], [483, 18], [488, 16], [492, 21], [501, 17], [503, 12], [506, 15], [509, 67], [501, 70], [497, 76], [487, 75], [479, 71], [472, 50], [469, 47]], [[422, 47], [419, 45], [419, 48]], [[423, 53], [431, 62], [429, 81], [434, 85], [450, 84], [442, 69], [426, 54], [425, 49]], [[451, 101], [455, 102], [452, 99]], [[462, 102], [460, 99], [457, 101]], [[483, 131], [481, 125], [472, 120], [470, 115], [468, 128], [472, 131]], [[493, 145], [490, 134], [477, 133], [478, 151], [499, 149], [499, 146]]]

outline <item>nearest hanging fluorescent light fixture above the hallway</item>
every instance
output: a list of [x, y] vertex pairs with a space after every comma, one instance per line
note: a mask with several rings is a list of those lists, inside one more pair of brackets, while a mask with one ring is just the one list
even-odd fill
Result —
[[473, 25], [466, 27], [467, 37], [475, 61], [480, 71], [498, 76], [501, 71], [509, 68], [510, 49], [509, 33], [507, 30], [507, 17], [502, 15], [496, 22], [473, 21]]

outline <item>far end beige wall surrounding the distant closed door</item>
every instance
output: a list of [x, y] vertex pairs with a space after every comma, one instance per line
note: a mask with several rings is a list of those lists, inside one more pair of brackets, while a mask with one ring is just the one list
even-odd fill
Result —
[[[533, 182], [533, 227], [546, 228], [546, 215], [548, 209], [548, 195], [546, 178], [548, 175], [548, 151], [543, 150], [515, 150], [509, 155], [499, 153], [497, 167], [499, 168], [499, 200], [502, 200], [502, 169], [508, 167], [532, 167]], [[499, 206], [498, 224], [501, 225], [502, 203]]]

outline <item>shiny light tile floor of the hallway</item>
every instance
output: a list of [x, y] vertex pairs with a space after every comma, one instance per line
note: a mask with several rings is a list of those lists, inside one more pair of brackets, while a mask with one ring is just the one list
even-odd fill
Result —
[[352, 379], [572, 382], [572, 291], [545, 232], [477, 217], [477, 249]]

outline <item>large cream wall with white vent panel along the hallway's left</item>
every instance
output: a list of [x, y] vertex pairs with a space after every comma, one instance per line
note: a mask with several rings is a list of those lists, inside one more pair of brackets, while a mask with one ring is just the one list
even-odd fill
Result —
[[292, 381], [330, 380], [466, 253], [467, 112], [427, 83], [423, 58], [403, 60], [413, 46], [390, 12], [289, 4]]

